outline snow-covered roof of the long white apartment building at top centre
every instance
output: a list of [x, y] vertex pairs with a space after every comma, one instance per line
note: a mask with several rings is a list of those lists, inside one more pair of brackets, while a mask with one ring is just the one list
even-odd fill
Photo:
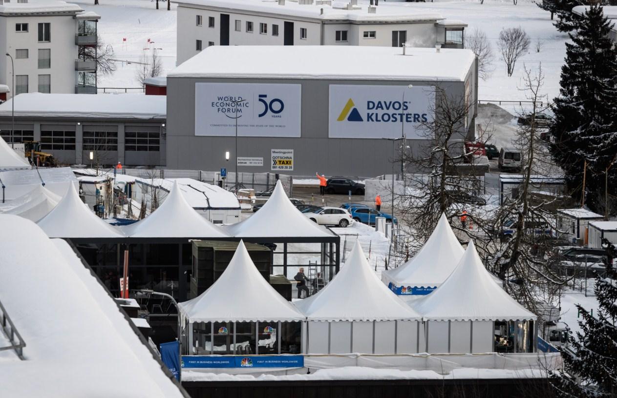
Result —
[[231, 12], [256, 12], [278, 17], [311, 18], [320, 21], [344, 22], [435, 22], [444, 17], [431, 9], [417, 9], [402, 7], [394, 4], [383, 4], [374, 7], [375, 13], [368, 12], [368, 4], [357, 4], [354, 9], [348, 10], [347, 3], [333, 1], [329, 4], [299, 4], [297, 1], [287, 0], [283, 5], [278, 1], [262, 0], [176, 0], [176, 3], [188, 6], [203, 7], [205, 9], [224, 9]]

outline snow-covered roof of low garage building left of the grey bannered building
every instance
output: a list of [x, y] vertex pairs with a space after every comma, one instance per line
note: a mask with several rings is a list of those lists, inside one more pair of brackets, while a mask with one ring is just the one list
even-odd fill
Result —
[[165, 119], [167, 97], [144, 94], [41, 94], [26, 92], [0, 105], [0, 116], [17, 117]]

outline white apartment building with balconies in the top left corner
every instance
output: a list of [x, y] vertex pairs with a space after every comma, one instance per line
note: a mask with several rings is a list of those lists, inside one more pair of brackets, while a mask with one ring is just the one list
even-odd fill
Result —
[[0, 0], [0, 85], [10, 88], [6, 99], [24, 92], [96, 94], [100, 18], [64, 1]]

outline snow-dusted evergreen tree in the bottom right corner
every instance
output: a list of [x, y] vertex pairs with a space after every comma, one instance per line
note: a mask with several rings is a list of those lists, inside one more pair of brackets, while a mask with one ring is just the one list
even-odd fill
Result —
[[[615, 246], [602, 239], [607, 249], [607, 273], [595, 282], [598, 311], [595, 316], [576, 306], [582, 315], [581, 332], [569, 336], [572, 354], [561, 351], [565, 370], [555, 387], [561, 397], [617, 396], [617, 270], [613, 267]], [[578, 376], [575, 381], [573, 376]]]

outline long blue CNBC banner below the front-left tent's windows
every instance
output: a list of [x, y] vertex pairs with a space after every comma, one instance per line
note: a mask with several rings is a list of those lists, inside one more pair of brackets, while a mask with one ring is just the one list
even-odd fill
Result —
[[182, 355], [183, 368], [302, 368], [304, 355]]

